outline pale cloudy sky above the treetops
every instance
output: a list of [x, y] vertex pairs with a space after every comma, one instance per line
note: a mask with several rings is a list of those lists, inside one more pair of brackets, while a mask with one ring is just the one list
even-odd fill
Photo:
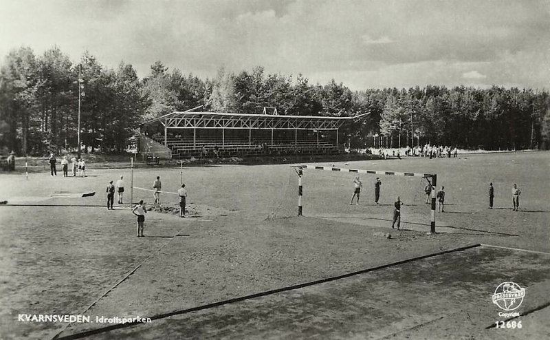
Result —
[[[0, 0], [0, 56], [58, 45], [151, 64], [369, 87], [550, 87], [550, 0]], [[1, 62], [0, 62], [1, 63]]]

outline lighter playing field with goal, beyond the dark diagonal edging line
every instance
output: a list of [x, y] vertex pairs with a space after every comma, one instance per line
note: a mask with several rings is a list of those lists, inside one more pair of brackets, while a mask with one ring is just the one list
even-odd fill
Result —
[[[281, 202], [292, 200], [288, 209], [296, 208], [296, 191], [287, 190], [296, 174], [288, 164], [187, 167], [183, 178], [189, 192], [188, 203], [196, 207], [195, 215], [200, 217], [181, 219], [148, 213], [148, 237], [143, 238], [135, 237], [135, 219], [128, 205], [115, 206], [114, 211], [104, 207], [107, 182], [123, 175], [129, 187], [129, 169], [91, 167], [87, 178], [52, 178], [47, 173], [33, 173], [29, 180], [24, 176], [0, 176], [0, 200], [9, 203], [18, 198], [17, 202], [23, 204], [0, 206], [0, 337], [51, 339], [67, 326], [21, 323], [17, 321], [19, 313], [83, 313], [94, 318], [156, 315], [458, 245], [485, 243], [550, 252], [549, 162], [550, 153], [544, 152], [331, 162], [360, 169], [437, 173], [439, 184], [448, 191], [450, 204], [448, 213], [437, 218], [456, 230], [431, 236], [421, 231], [421, 226], [395, 233], [391, 222], [354, 223], [349, 219], [318, 217], [265, 220], [282, 206]], [[342, 173], [347, 175], [350, 174]], [[177, 167], [134, 169], [133, 185], [149, 188], [156, 176], [161, 177], [166, 191], [179, 187], [181, 173]], [[316, 180], [315, 176], [306, 173], [304, 177], [307, 209], [334, 216], [348, 211], [351, 186], [341, 194], [312, 200], [311, 193], [322, 192], [326, 186], [326, 181]], [[389, 177], [382, 180], [381, 202], [391, 204], [401, 184], [392, 184]], [[496, 189], [493, 210], [487, 209], [489, 182]], [[511, 211], [509, 197], [513, 183], [522, 190], [522, 211], [517, 213]], [[92, 198], [50, 198], [56, 191], [97, 193]], [[364, 191], [365, 198], [370, 198], [370, 184]], [[126, 191], [126, 202], [128, 195]], [[136, 190], [133, 195], [134, 201], [153, 200], [147, 191]], [[177, 198], [164, 194], [162, 202], [175, 204]], [[391, 219], [391, 206], [388, 209], [367, 205], [358, 209], [364, 209], [360, 211], [364, 215], [376, 212]], [[380, 231], [392, 233], [392, 239], [373, 236]], [[463, 263], [467, 268], [467, 262]], [[511, 266], [508, 269], [513, 270]], [[429, 273], [430, 269], [426, 270]], [[403, 280], [392, 279], [388, 290], [382, 287], [377, 294], [399, 301], [391, 288], [415, 284], [414, 279]], [[531, 287], [534, 281], [526, 277], [522, 284]], [[486, 286], [498, 283], [483, 282]], [[446, 301], [445, 295], [434, 295], [429, 301], [418, 296], [421, 304], [441, 306]], [[453, 306], [449, 305], [449, 314], [478, 307], [476, 300], [465, 301], [460, 308]], [[399, 309], [399, 304], [387, 308], [391, 313]], [[100, 326], [105, 325], [76, 323], [62, 335]], [[446, 336], [445, 328], [438, 334]], [[140, 337], [131, 334], [131, 328], [117, 336]], [[148, 334], [158, 336], [155, 332]]]

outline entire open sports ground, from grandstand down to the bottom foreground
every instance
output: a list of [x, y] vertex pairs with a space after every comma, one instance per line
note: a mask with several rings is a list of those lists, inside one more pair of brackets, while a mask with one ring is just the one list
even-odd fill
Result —
[[[550, 337], [550, 153], [324, 165], [332, 164], [437, 173], [448, 203], [437, 214], [438, 234], [426, 235], [421, 179], [381, 176], [375, 205], [374, 178], [362, 175], [362, 204], [350, 206], [353, 174], [305, 171], [305, 216], [266, 220], [297, 212], [297, 176], [288, 164], [184, 168], [188, 217], [150, 212], [146, 237], [138, 238], [129, 204], [104, 205], [107, 183], [120, 175], [129, 202], [130, 169], [91, 167], [87, 178], [0, 175], [0, 201], [8, 200], [0, 205], [0, 338]], [[164, 191], [178, 189], [179, 168], [135, 169], [133, 185], [150, 189], [156, 176]], [[522, 191], [518, 212], [511, 210], [514, 183]], [[49, 196], [86, 191], [97, 193]], [[391, 229], [396, 195], [407, 197], [400, 232]], [[148, 191], [133, 196], [153, 200]], [[175, 206], [175, 195], [162, 202]], [[487, 328], [507, 320], [491, 300], [504, 281], [526, 288], [514, 310], [521, 329]], [[21, 321], [21, 314], [93, 322]], [[137, 316], [151, 323], [96, 322]]]

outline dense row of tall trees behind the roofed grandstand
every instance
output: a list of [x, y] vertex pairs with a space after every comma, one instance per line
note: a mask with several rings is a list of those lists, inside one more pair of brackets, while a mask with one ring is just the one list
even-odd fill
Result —
[[[79, 88], [80, 87], [80, 88]], [[30, 47], [12, 50], [0, 68], [0, 145], [19, 155], [75, 149], [121, 152], [147, 120], [202, 105], [202, 111], [356, 116], [342, 139], [364, 147], [384, 136], [393, 147], [425, 144], [463, 148], [550, 147], [550, 96], [545, 90], [493, 86], [428, 85], [409, 89], [351, 91], [332, 80], [312, 84], [298, 74], [266, 74], [220, 68], [205, 80], [162, 62], [140, 79], [133, 66], [109, 68], [85, 52], [74, 63], [58, 47], [36, 56]]]

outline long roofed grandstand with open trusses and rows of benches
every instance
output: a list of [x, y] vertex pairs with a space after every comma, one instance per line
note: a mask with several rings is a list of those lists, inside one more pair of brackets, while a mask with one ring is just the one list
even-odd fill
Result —
[[[177, 111], [141, 125], [140, 153], [175, 159], [336, 154], [343, 150], [339, 146], [340, 127], [366, 115], [327, 117]], [[156, 148], [151, 147], [153, 144]], [[166, 152], [162, 152], [162, 147]]]

